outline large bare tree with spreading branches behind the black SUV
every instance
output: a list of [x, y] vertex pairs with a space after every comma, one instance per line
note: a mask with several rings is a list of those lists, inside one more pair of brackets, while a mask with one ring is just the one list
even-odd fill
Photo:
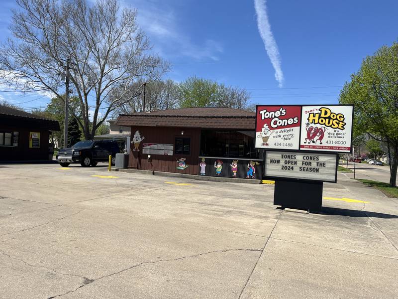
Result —
[[151, 53], [136, 23], [136, 10], [120, 9], [118, 0], [16, 3], [13, 38], [0, 47], [3, 83], [24, 91], [48, 90], [64, 99], [61, 63], [69, 58], [72, 89], [82, 113], [76, 119], [86, 139], [94, 137], [109, 113], [139, 95], [134, 82], [156, 80], [169, 69]]

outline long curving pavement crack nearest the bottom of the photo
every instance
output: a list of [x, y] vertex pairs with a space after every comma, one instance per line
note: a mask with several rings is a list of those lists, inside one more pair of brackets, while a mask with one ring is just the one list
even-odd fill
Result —
[[[208, 251], [208, 252], [203, 252], [203, 253], [199, 253], [199, 254], [194, 254], [194, 255], [190, 255], [190, 256], [179, 257], [179, 258], [175, 258], [175, 259], [163, 259], [163, 260], [157, 260], [157, 261], [152, 261], [152, 262], [142, 262], [142, 263], [139, 263], [139, 264], [130, 266], [130, 267], [128, 267], [128, 268], [125, 268], [125, 269], [123, 269], [123, 270], [116, 271], [116, 272], [114, 272], [114, 273], [101, 276], [101, 277], [96, 278], [96, 279], [92, 279], [92, 280], [87, 279], [87, 281], [84, 281], [84, 284], [83, 284], [83, 285], [79, 286], [79, 287], [76, 288], [75, 290], [71, 290], [71, 291], [68, 291], [68, 292], [63, 293], [63, 294], [59, 294], [59, 295], [56, 295], [56, 296], [52, 296], [52, 297], [49, 297], [48, 299], [54, 299], [54, 298], [58, 298], [58, 297], [61, 297], [61, 296], [67, 295], [67, 294], [74, 293], [74, 292], [76, 292], [77, 290], [79, 290], [80, 288], [83, 288], [84, 286], [87, 286], [87, 285], [89, 285], [89, 284], [91, 284], [91, 283], [94, 283], [94, 282], [96, 282], [96, 281], [98, 281], [98, 280], [101, 280], [101, 279], [104, 279], [104, 278], [107, 278], [107, 277], [111, 277], [111, 276], [116, 275], [116, 274], [120, 274], [120, 273], [122, 273], [122, 272], [131, 270], [131, 269], [133, 269], [133, 268], [140, 267], [140, 266], [142, 266], [142, 265], [156, 264], [156, 263], [160, 263], [160, 262], [178, 261], [178, 260], [183, 260], [183, 259], [188, 259], [188, 258], [196, 258], [196, 257], [202, 256], [202, 255], [206, 255], [206, 254], [224, 253], [224, 252], [229, 252], [229, 251], [258, 251], [258, 252], [261, 252], [261, 253], [262, 253], [262, 252], [263, 252], [263, 249], [251, 249], [251, 248], [221, 249], [221, 250], [214, 250], [214, 251]], [[260, 254], [260, 255], [261, 255], [261, 254]]]

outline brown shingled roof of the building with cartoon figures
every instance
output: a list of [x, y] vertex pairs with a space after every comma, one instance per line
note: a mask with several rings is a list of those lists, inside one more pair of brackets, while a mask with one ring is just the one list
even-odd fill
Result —
[[254, 130], [255, 113], [233, 108], [180, 108], [121, 114], [119, 126]]

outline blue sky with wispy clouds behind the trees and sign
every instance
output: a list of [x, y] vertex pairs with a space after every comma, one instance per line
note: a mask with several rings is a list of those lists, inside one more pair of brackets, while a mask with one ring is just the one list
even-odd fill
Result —
[[[253, 0], [122, 4], [138, 9], [139, 24], [154, 50], [173, 64], [165, 78], [183, 81], [196, 75], [237, 85], [248, 89], [250, 101], [258, 104], [337, 103], [342, 85], [362, 59], [398, 38], [397, 0], [268, 0], [266, 13], [284, 77], [279, 87]], [[15, 3], [2, 0], [1, 6], [2, 41]], [[48, 102], [42, 95], [2, 92], [0, 99], [34, 100], [21, 104], [26, 109]]]

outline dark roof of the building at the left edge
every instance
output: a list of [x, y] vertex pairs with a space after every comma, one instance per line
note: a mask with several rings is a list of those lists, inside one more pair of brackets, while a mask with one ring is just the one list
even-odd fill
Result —
[[40, 129], [60, 131], [58, 121], [49, 120], [38, 115], [3, 105], [0, 105], [0, 121], [6, 122], [7, 125], [10, 125], [10, 122], [12, 121], [15, 121], [16, 123], [18, 121], [25, 121], [25, 123], [35, 125]]

